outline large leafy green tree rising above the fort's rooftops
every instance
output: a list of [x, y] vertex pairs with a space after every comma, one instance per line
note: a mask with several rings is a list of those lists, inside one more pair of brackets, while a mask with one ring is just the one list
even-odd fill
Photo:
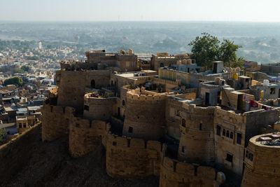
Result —
[[234, 41], [224, 39], [223, 42], [216, 36], [204, 32], [197, 36], [188, 45], [192, 46], [191, 58], [195, 59], [199, 66], [212, 67], [212, 62], [221, 60], [225, 67], [243, 67], [244, 60], [238, 58], [236, 52], [241, 46], [235, 45]]

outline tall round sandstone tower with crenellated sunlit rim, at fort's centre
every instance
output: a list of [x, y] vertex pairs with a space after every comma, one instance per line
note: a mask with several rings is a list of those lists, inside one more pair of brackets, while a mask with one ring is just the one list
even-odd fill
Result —
[[165, 133], [165, 100], [167, 96], [144, 88], [127, 92], [123, 135], [159, 139]]

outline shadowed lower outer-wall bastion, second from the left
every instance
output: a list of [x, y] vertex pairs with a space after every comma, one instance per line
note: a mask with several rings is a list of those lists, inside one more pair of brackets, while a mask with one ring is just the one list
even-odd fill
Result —
[[109, 123], [73, 117], [69, 125], [69, 152], [73, 157], [82, 157], [96, 150], [106, 139]]

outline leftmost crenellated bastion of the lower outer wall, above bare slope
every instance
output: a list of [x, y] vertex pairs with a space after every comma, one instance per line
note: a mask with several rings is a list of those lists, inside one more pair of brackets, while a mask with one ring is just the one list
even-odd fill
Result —
[[69, 122], [75, 110], [69, 106], [43, 104], [42, 140], [53, 141], [64, 137], [69, 132]]

